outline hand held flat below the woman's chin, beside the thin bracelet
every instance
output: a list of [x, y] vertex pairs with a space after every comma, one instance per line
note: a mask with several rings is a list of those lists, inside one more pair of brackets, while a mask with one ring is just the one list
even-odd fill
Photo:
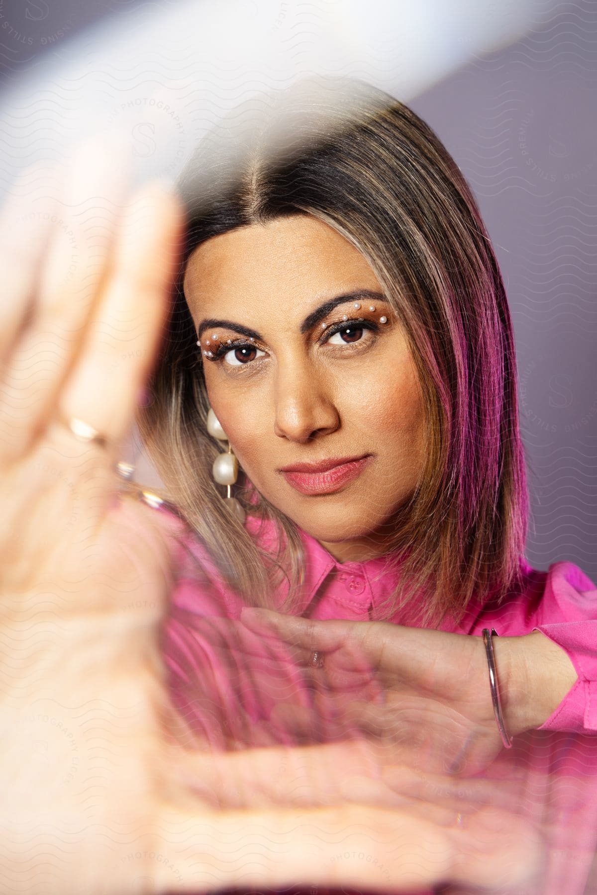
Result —
[[[387, 622], [318, 621], [268, 609], [243, 609], [241, 618], [285, 642], [309, 670], [315, 714], [327, 739], [366, 732], [412, 767], [467, 775], [484, 770], [502, 748], [482, 637]], [[493, 644], [502, 709], [514, 735], [522, 730], [507, 712], [507, 649], [500, 667], [495, 639]], [[322, 667], [310, 667], [313, 652], [323, 657]], [[277, 712], [286, 724], [312, 730], [312, 710], [297, 708], [280, 704]]]

